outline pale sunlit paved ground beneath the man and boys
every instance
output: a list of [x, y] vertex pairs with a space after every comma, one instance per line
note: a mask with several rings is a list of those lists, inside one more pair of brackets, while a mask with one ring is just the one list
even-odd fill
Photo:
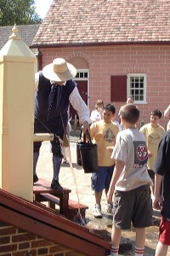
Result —
[[[49, 151], [50, 143], [43, 142], [39, 160], [37, 162], [37, 176], [51, 182], [53, 177], [52, 154]], [[90, 188], [91, 174], [85, 174], [82, 166], [77, 166], [76, 153], [77, 137], [71, 137], [71, 166], [62, 164], [59, 172], [59, 183], [68, 189], [71, 189], [70, 198], [74, 201], [88, 206], [86, 213], [87, 226], [94, 233], [105, 237], [105, 240], [111, 241], [111, 222], [112, 216], [105, 213], [105, 193], [102, 195], [101, 206], [104, 212], [104, 217], [101, 219], [94, 218], [94, 192]], [[159, 212], [156, 212], [159, 215]], [[147, 229], [146, 232], [146, 247], [144, 256], [154, 256], [158, 238], [159, 217], [156, 218], [155, 225]], [[129, 230], [122, 232], [122, 250], [120, 255], [134, 255], [135, 232]], [[170, 251], [167, 254], [170, 256]]]

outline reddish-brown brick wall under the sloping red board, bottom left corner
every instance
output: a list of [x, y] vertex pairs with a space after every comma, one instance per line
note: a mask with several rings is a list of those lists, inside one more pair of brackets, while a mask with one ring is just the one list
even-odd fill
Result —
[[[65, 241], [66, 242], [66, 241]], [[85, 256], [68, 247], [20, 230], [0, 221], [0, 255], [3, 256]]]

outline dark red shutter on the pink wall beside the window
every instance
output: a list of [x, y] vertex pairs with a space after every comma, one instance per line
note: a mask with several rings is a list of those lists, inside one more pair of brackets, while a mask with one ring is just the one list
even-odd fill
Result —
[[111, 102], [126, 102], [127, 76], [111, 76]]

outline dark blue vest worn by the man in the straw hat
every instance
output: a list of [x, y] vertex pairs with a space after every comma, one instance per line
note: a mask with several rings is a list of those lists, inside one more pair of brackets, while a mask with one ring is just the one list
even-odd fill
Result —
[[76, 83], [73, 80], [66, 81], [65, 85], [56, 85], [54, 101], [52, 103], [52, 108], [49, 112], [48, 97], [51, 92], [52, 84], [50, 83], [50, 80], [46, 79], [42, 75], [42, 71], [40, 71], [39, 84], [37, 88], [37, 93], [35, 95], [35, 122], [39, 123], [40, 121], [41, 123], [48, 125], [49, 130], [54, 130], [52, 126], [58, 124], [57, 133], [59, 134], [59, 130], [63, 130], [63, 123], [64, 126], [66, 126], [67, 124], [68, 107], [70, 104], [69, 96], [71, 95], [71, 92], [72, 90], [74, 90], [75, 86]]

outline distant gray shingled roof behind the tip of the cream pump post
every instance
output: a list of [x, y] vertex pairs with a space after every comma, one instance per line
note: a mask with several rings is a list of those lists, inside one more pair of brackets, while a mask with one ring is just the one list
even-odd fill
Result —
[[[40, 24], [33, 25], [20, 25], [18, 35], [26, 43], [27, 46], [31, 46], [32, 40], [35, 37]], [[7, 43], [8, 37], [12, 34], [14, 26], [0, 26], [0, 49]]]

